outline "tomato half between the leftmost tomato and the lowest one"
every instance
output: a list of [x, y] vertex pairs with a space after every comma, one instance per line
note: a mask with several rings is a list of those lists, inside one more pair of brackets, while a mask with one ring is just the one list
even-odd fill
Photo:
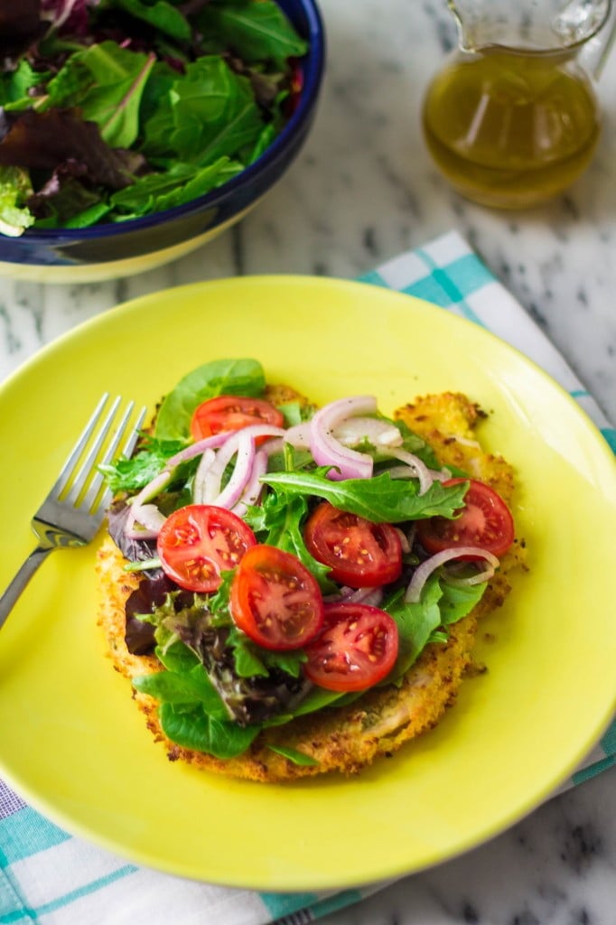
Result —
[[240, 630], [264, 648], [301, 648], [323, 625], [323, 598], [314, 575], [275, 546], [253, 546], [240, 561], [230, 610]]

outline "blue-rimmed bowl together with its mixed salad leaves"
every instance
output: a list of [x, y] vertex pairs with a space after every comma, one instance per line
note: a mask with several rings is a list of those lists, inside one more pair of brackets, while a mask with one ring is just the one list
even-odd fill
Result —
[[314, 0], [0, 0], [0, 275], [141, 272], [240, 220], [298, 154]]

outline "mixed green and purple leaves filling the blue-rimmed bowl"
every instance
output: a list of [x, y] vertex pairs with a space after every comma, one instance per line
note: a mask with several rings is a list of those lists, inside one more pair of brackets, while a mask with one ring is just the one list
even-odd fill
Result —
[[275, 0], [0, 0], [0, 233], [222, 186], [289, 119], [306, 51]]

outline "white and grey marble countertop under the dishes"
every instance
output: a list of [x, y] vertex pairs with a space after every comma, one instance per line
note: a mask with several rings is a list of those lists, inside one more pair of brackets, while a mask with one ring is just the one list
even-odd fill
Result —
[[[605, 126], [585, 177], [534, 211], [497, 213], [450, 191], [421, 137], [422, 93], [452, 35], [445, 0], [321, 0], [321, 8], [321, 104], [277, 188], [240, 227], [138, 277], [81, 286], [0, 280], [0, 377], [69, 327], [142, 293], [247, 273], [357, 277], [457, 228], [616, 421], [616, 52], [599, 88]], [[615, 782], [608, 771], [489, 845], [323, 921], [613, 925]]]

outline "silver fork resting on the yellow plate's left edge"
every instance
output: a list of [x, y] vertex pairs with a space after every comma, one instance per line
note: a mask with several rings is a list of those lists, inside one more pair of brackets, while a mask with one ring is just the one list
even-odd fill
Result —
[[[117, 450], [122, 440], [124, 445], [121, 455], [130, 455], [146, 413], [146, 409], [142, 408], [135, 423], [129, 426], [134, 401], [129, 401], [117, 421], [122, 399], [120, 396], [114, 399], [105, 412], [108, 399], [109, 393], [105, 392], [70, 451], [54, 487], [32, 517], [31, 527], [39, 540], [38, 546], [0, 597], [0, 629], [6, 623], [19, 595], [49, 553], [55, 549], [86, 546], [103, 523], [111, 491], [108, 488], [102, 490], [104, 478], [98, 466], [117, 459]], [[109, 441], [105, 444], [109, 435]]]

